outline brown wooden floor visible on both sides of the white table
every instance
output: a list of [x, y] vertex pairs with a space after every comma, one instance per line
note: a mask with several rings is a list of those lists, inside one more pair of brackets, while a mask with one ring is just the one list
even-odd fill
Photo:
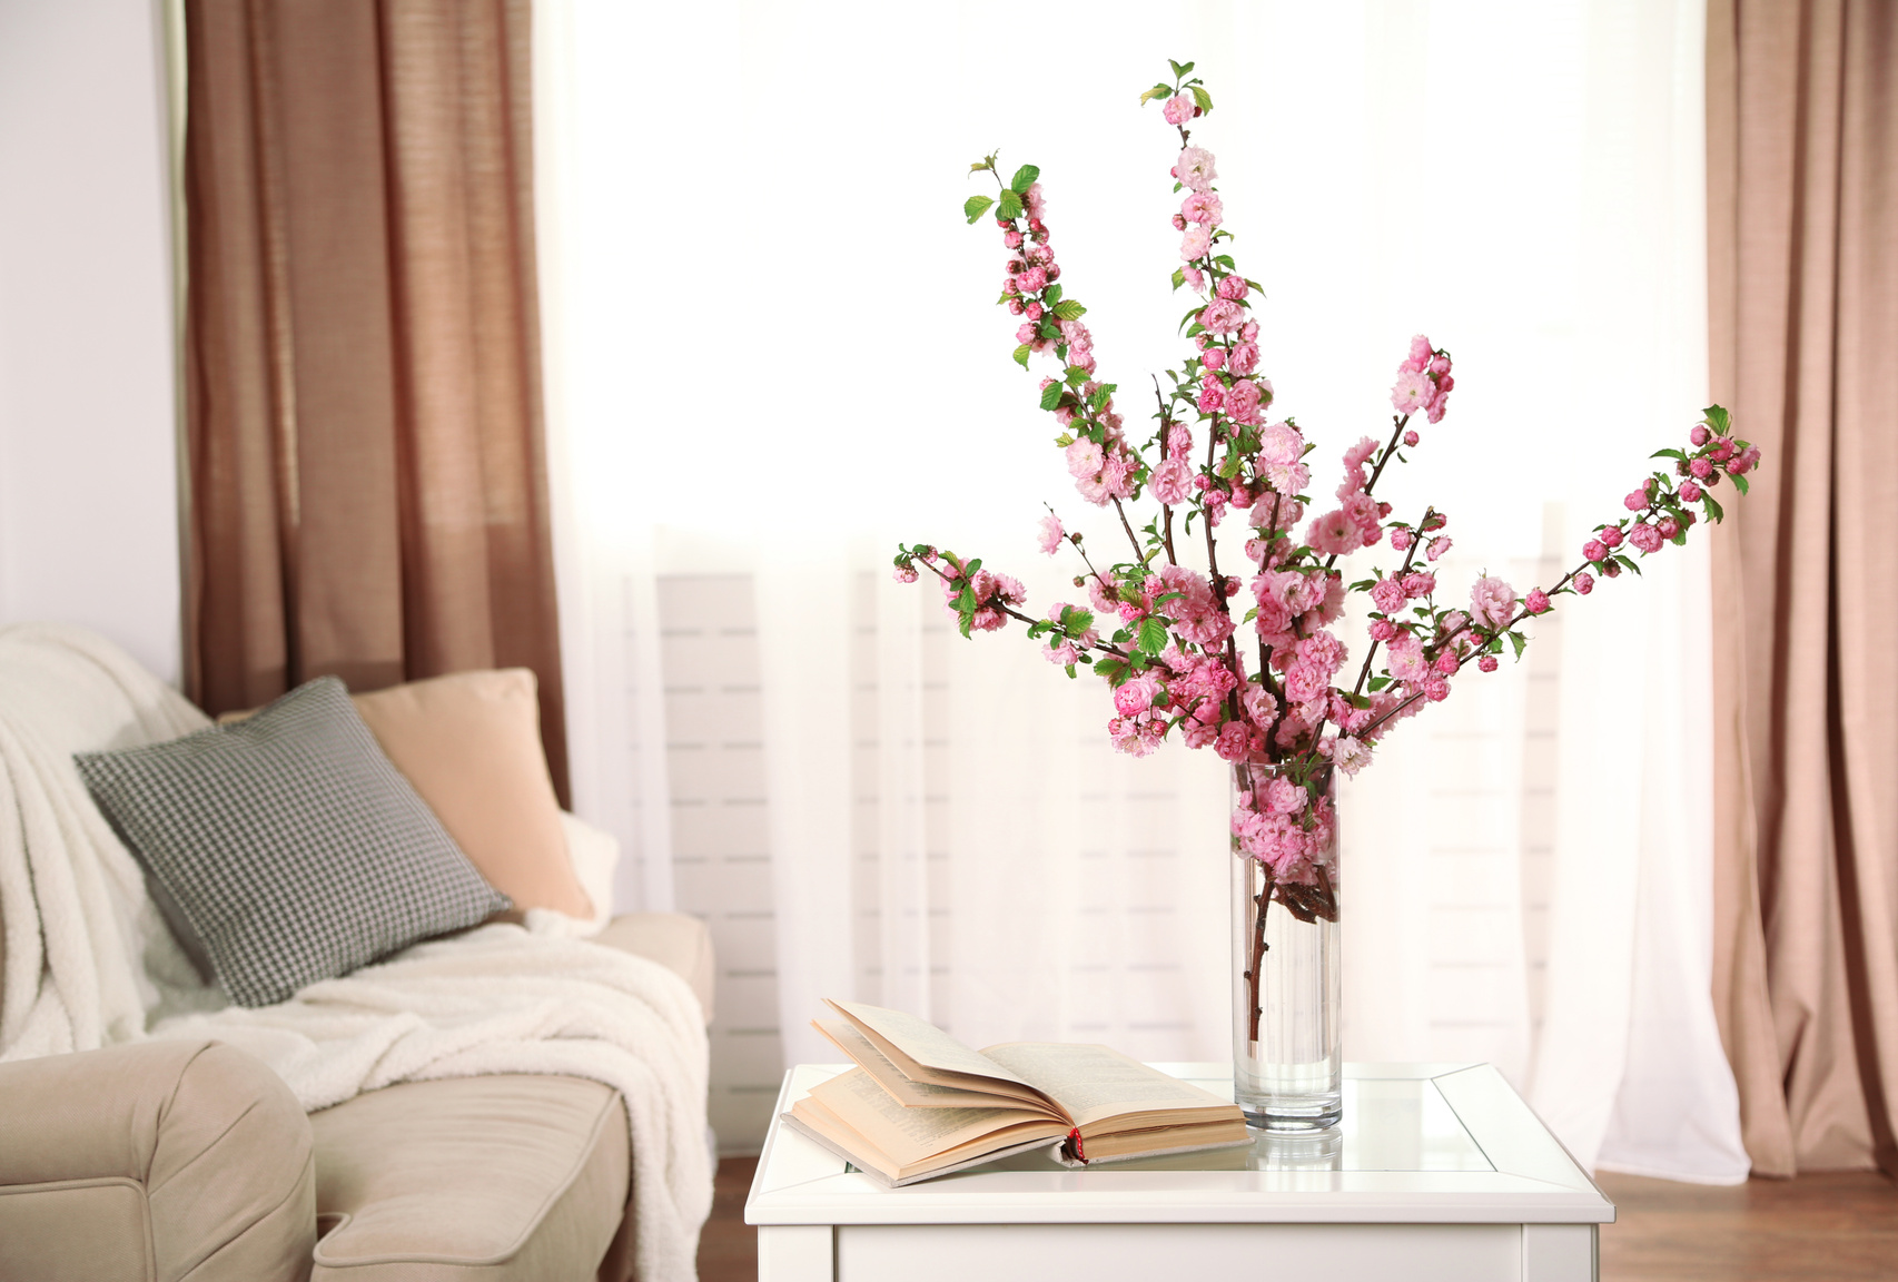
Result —
[[[757, 1159], [717, 1164], [700, 1282], [754, 1282], [744, 1197]], [[1602, 1229], [1602, 1282], [1898, 1282], [1898, 1185], [1871, 1172], [1716, 1189], [1604, 1174], [1619, 1217]]]

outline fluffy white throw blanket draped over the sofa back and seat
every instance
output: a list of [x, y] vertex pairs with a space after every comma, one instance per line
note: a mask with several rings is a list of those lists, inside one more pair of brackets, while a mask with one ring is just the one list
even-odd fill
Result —
[[[306, 1109], [402, 1081], [566, 1073], [626, 1100], [642, 1278], [695, 1276], [712, 1204], [706, 1037], [691, 988], [613, 948], [490, 925], [290, 1001], [224, 1007], [93, 805], [72, 754], [209, 722], [84, 629], [0, 629], [0, 1062], [140, 1037], [216, 1037]], [[535, 914], [539, 917], [539, 914]]]

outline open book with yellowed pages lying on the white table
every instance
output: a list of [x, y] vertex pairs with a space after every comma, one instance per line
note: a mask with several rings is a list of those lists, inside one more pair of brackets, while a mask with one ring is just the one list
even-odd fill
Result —
[[784, 1121], [892, 1187], [1051, 1141], [1069, 1166], [1251, 1141], [1237, 1105], [1107, 1046], [970, 1050], [913, 1014], [829, 1007], [843, 1018], [812, 1026], [856, 1067]]

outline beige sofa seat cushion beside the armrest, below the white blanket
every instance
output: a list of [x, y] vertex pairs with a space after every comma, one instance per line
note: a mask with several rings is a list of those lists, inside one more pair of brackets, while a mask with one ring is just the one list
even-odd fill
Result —
[[626, 1107], [577, 1077], [402, 1083], [311, 1113], [311, 1278], [592, 1278], [630, 1189]]

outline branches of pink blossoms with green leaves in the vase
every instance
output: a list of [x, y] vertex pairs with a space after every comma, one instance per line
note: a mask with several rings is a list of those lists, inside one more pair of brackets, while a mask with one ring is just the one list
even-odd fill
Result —
[[[1689, 429], [1687, 448], [1653, 454], [1668, 465], [1628, 492], [1627, 515], [1596, 526], [1581, 562], [1556, 583], [1518, 593], [1482, 575], [1467, 598], [1446, 602], [1431, 562], [1450, 547], [1448, 515], [1425, 507], [1397, 520], [1378, 500], [1378, 481], [1418, 448], [1418, 420], [1442, 420], [1456, 386], [1450, 353], [1422, 334], [1410, 340], [1391, 387], [1389, 431], [1346, 450], [1330, 501], [1313, 501], [1306, 456], [1317, 446], [1293, 418], [1274, 412], [1251, 319], [1260, 287], [1226, 253], [1232, 232], [1215, 186], [1219, 171], [1188, 133], [1213, 99], [1190, 78], [1192, 63], [1171, 66], [1171, 84], [1146, 89], [1141, 103], [1162, 101], [1179, 131], [1171, 173], [1173, 190], [1184, 192], [1173, 215], [1182, 266], [1173, 287], [1192, 292], [1181, 321], [1192, 351], [1167, 372], [1171, 387], [1156, 380], [1150, 437], [1129, 435], [1116, 384], [1097, 376], [1082, 321], [1088, 310], [1065, 291], [1050, 243], [1040, 171], [1023, 165], [1002, 184], [996, 158], [987, 156], [970, 169], [991, 173], [1000, 190], [962, 209], [972, 224], [993, 217], [1000, 230], [1008, 258], [1000, 304], [1021, 317], [1015, 361], [1027, 368], [1034, 357], [1053, 357], [1040, 406], [1061, 427], [1055, 444], [1080, 496], [1112, 507], [1126, 556], [1097, 564], [1082, 536], [1050, 511], [1040, 547], [1053, 555], [1069, 545], [1080, 555], [1086, 574], [1074, 587], [1086, 587], [1088, 604], [1055, 602], [1042, 617], [1023, 610], [1017, 579], [947, 549], [900, 545], [896, 577], [913, 583], [919, 566], [934, 574], [964, 636], [1014, 619], [1069, 676], [1091, 667], [1112, 688], [1107, 729], [1122, 752], [1144, 756], [1177, 733], [1188, 748], [1209, 746], [1232, 762], [1236, 849], [1266, 866], [1294, 917], [1334, 921], [1332, 773], [1363, 769], [1378, 741], [1425, 703], [1446, 699], [1465, 667], [1494, 672], [1505, 650], [1520, 657], [1522, 623], [1553, 610], [1558, 596], [1587, 596], [1596, 575], [1638, 574], [1636, 556], [1685, 543], [1701, 517], [1720, 520], [1714, 490], [1731, 481], [1744, 494], [1759, 450], [1737, 441], [1727, 412], [1712, 406]], [[1228, 520], [1247, 528], [1245, 577], [1219, 564], [1215, 530]], [[1203, 566], [1184, 558], [1196, 534]], [[1380, 543], [1397, 564], [1348, 581], [1340, 560]], [[1370, 596], [1355, 665], [1334, 631], [1349, 593]]]

